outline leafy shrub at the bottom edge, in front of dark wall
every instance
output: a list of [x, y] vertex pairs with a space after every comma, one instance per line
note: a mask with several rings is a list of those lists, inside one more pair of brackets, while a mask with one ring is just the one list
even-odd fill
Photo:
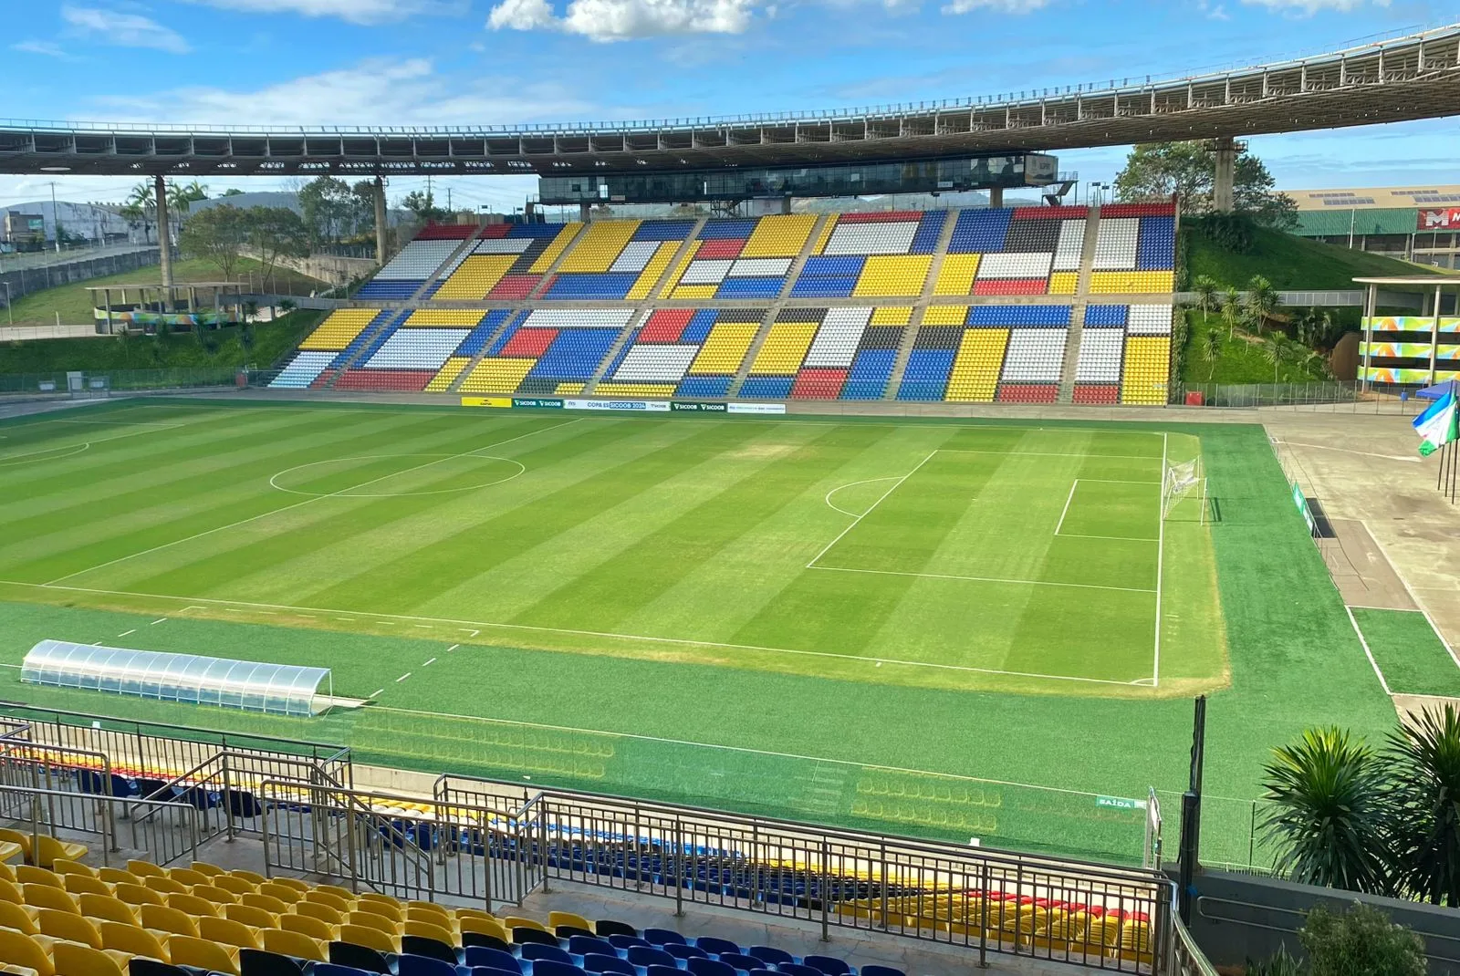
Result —
[[1313, 976], [1425, 976], [1425, 944], [1375, 907], [1342, 915], [1318, 905], [1298, 932]]

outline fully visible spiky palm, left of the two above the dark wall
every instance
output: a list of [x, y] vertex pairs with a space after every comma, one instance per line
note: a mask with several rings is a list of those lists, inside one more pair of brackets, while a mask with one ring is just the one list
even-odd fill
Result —
[[1278, 874], [1301, 884], [1384, 893], [1384, 767], [1339, 728], [1314, 728], [1263, 767], [1263, 832]]

